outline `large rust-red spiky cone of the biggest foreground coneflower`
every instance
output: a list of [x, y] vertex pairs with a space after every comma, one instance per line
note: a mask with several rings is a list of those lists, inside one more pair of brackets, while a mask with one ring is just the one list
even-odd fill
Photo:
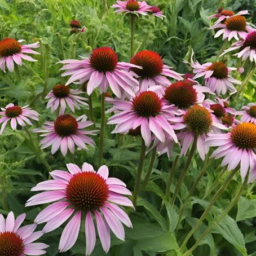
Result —
[[67, 200], [76, 210], [94, 210], [108, 200], [108, 185], [92, 171], [74, 174], [66, 188]]

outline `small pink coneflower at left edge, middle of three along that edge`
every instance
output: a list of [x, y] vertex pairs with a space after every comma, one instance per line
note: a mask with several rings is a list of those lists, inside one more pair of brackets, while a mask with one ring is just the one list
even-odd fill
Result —
[[1, 108], [1, 110], [0, 116], [2, 117], [0, 118], [0, 124], [2, 123], [2, 127], [0, 134], [3, 133], [3, 129], [5, 129], [9, 120], [11, 121], [12, 130], [17, 129], [17, 123], [19, 123], [21, 126], [25, 126], [25, 122], [27, 122], [29, 125], [33, 125], [28, 118], [38, 121], [39, 114], [31, 108], [28, 108], [28, 105], [20, 107], [10, 103], [5, 108]]

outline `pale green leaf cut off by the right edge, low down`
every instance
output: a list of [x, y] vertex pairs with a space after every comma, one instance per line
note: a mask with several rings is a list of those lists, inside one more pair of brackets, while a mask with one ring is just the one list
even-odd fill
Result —
[[256, 217], [256, 199], [247, 199], [240, 196], [238, 201], [236, 222], [254, 217]]

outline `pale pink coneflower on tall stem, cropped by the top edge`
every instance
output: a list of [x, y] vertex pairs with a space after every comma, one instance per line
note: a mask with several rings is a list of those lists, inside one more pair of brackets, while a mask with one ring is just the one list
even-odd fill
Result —
[[147, 5], [145, 1], [139, 2], [136, 0], [129, 0], [129, 1], [117, 1], [115, 5], [112, 5], [111, 8], [117, 8], [115, 12], [122, 14], [142, 14], [147, 15], [148, 10], [151, 6]]

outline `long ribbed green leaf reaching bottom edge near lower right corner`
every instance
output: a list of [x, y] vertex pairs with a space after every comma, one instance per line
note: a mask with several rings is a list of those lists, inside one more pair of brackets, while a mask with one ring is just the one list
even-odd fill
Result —
[[235, 220], [228, 215], [215, 225], [212, 233], [221, 234], [224, 239], [235, 246], [235, 248], [239, 250], [242, 255], [248, 255], [246, 253], [244, 236], [242, 235], [242, 232], [237, 226]]

